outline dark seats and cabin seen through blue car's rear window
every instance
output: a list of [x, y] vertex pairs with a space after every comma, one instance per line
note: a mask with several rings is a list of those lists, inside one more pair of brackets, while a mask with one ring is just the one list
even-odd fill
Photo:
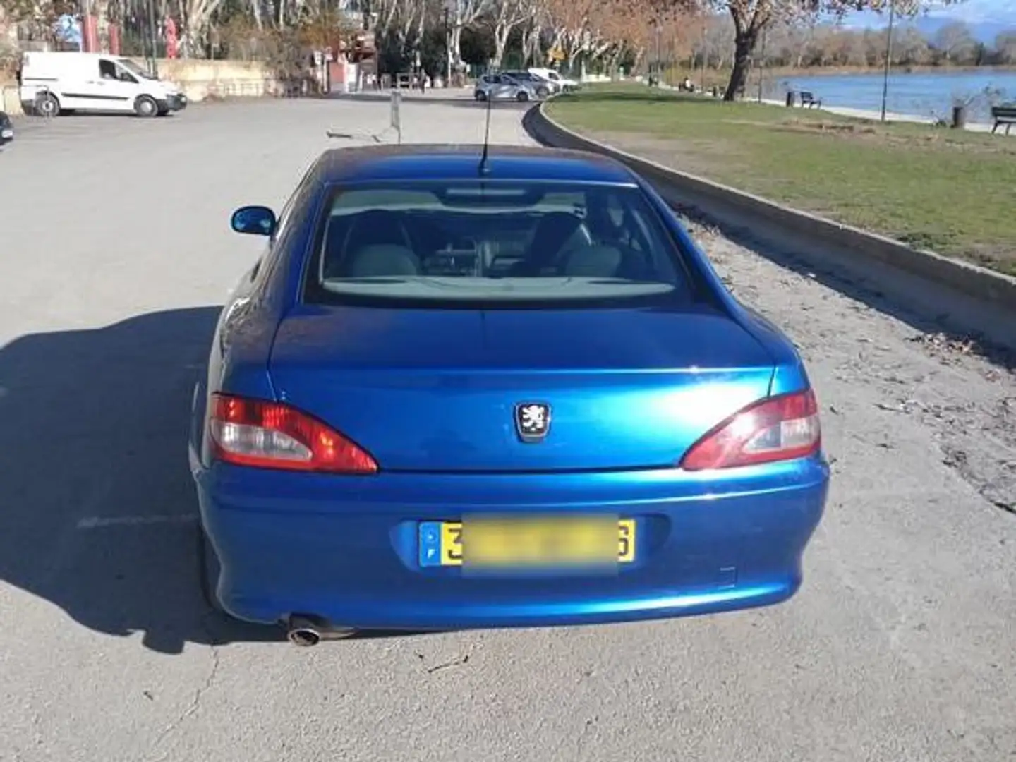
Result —
[[407, 276], [676, 280], [673, 255], [658, 232], [641, 210], [609, 193], [588, 194], [581, 203], [496, 211], [401, 206], [333, 208], [320, 282]]

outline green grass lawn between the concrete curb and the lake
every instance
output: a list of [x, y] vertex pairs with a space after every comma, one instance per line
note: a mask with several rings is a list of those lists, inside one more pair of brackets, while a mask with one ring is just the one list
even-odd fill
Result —
[[1016, 137], [590, 87], [555, 120], [675, 169], [1016, 275]]

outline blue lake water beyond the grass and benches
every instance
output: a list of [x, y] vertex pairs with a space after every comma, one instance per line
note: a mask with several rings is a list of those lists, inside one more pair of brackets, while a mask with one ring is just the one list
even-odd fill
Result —
[[[822, 99], [823, 106], [847, 109], [882, 108], [882, 74], [819, 74], [817, 76], [767, 76], [768, 97], [782, 100], [786, 89], [810, 90]], [[749, 78], [746, 94], [752, 98], [758, 88], [758, 72]], [[986, 87], [1002, 90], [999, 101], [1016, 102], [1016, 71], [989, 71], [934, 74], [890, 72], [886, 111], [918, 117], [952, 116], [953, 99], [977, 97]], [[967, 121], [989, 122], [991, 104], [979, 96], [967, 105]]]

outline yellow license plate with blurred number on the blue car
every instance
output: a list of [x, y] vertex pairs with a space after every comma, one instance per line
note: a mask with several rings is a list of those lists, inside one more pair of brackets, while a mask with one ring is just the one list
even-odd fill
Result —
[[[433, 524], [431, 524], [433, 526]], [[588, 518], [481, 518], [443, 521], [440, 566], [569, 566], [631, 563], [635, 520]]]

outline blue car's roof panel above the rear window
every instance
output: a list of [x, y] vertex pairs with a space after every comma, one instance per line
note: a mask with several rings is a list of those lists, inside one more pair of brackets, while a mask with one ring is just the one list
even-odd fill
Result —
[[[407, 143], [331, 148], [317, 162], [325, 184], [386, 180], [465, 180], [480, 177], [482, 144]], [[635, 177], [608, 156], [565, 148], [490, 145], [490, 180], [573, 181], [632, 185]]]

